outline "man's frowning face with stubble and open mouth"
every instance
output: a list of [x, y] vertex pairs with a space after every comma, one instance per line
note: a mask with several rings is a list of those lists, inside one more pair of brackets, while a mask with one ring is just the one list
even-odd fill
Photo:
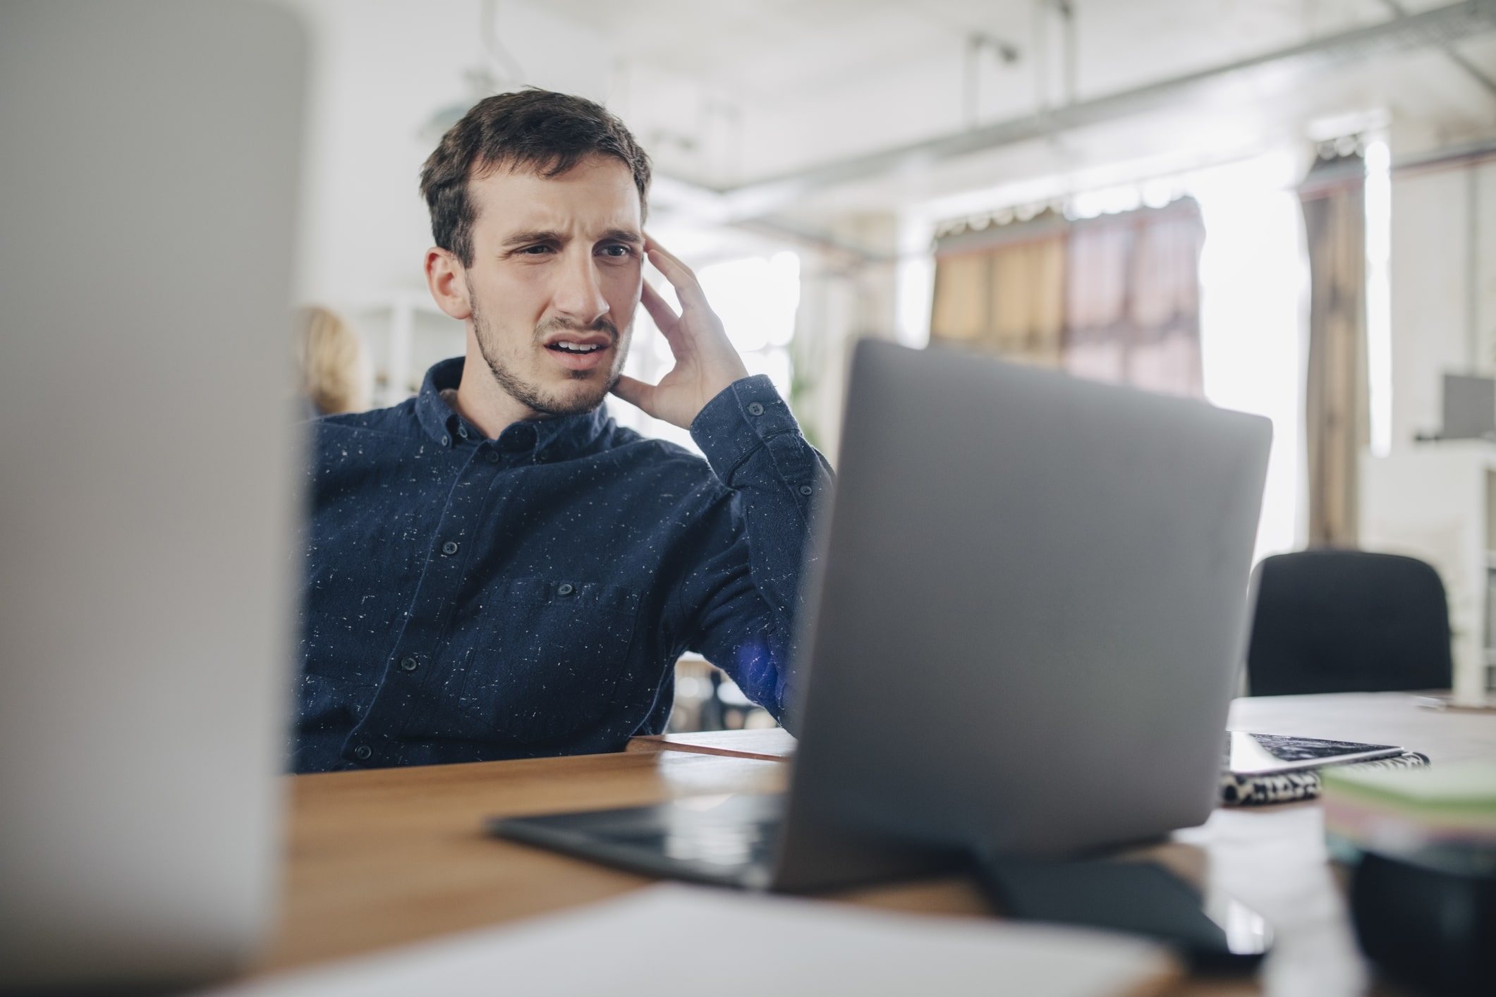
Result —
[[473, 330], [498, 386], [540, 416], [597, 408], [624, 368], [643, 281], [633, 173], [601, 155], [554, 178], [500, 166], [468, 196]]

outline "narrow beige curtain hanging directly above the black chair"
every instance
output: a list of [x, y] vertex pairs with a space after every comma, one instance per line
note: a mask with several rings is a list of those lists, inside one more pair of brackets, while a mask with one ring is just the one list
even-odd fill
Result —
[[1367, 442], [1366, 167], [1321, 158], [1299, 188], [1309, 242], [1309, 544], [1355, 547], [1357, 460]]

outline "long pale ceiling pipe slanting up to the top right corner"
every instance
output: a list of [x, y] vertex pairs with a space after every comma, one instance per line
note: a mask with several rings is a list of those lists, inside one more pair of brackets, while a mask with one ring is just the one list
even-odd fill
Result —
[[[868, 152], [794, 173], [732, 188], [708, 188], [672, 179], [658, 190], [663, 200], [690, 200], [699, 214], [721, 223], [761, 218], [806, 194], [850, 181], [926, 166], [1004, 145], [1047, 138], [1121, 117], [1158, 111], [1189, 94], [1203, 93], [1267, 67], [1290, 64], [1334, 64], [1406, 51], [1426, 45], [1450, 46], [1457, 40], [1496, 28], [1496, 0], [1466, 0], [1418, 13], [1394, 16], [1379, 24], [1312, 39], [1302, 45], [1239, 60], [1227, 66], [1186, 73], [1104, 97], [1053, 108], [1022, 118]], [[661, 178], [664, 179], [664, 178]], [[672, 197], [675, 194], [675, 197]]]

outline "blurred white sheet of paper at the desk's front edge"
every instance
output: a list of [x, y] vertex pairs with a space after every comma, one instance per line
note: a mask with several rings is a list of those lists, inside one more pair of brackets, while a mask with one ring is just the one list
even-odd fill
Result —
[[1162, 949], [1119, 934], [666, 883], [212, 994], [1110, 997], [1171, 969]]

